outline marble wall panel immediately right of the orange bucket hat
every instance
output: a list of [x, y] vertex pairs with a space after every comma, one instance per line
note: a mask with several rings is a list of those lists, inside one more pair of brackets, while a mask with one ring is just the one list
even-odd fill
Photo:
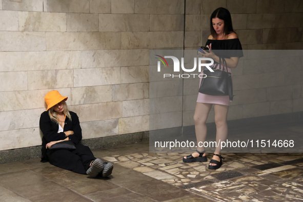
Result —
[[72, 105], [106, 103], [112, 101], [111, 86], [72, 88]]

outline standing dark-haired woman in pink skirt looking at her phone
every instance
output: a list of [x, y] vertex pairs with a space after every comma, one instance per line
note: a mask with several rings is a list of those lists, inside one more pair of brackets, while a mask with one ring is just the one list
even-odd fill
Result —
[[[206, 42], [206, 47], [209, 48], [209, 52], [204, 51], [204, 53], [201, 54], [204, 57], [212, 58], [215, 63], [221, 62], [221, 64], [223, 64], [223, 61], [222, 59], [219, 61], [219, 59], [220, 57], [224, 57], [226, 59], [228, 71], [231, 72], [231, 68], [237, 67], [239, 57], [243, 57], [243, 51], [238, 36], [233, 30], [230, 12], [226, 8], [217, 8], [211, 14], [210, 30], [211, 34]], [[218, 68], [219, 67], [217, 67], [217, 69]], [[229, 103], [229, 96], [212, 96], [198, 93], [194, 114], [197, 143], [205, 142], [207, 135], [206, 120], [212, 105], [214, 105], [215, 111], [217, 147], [208, 166], [209, 169], [215, 170], [222, 165], [223, 157], [220, 155], [221, 149], [218, 144], [219, 142], [225, 141], [227, 138], [227, 112]], [[197, 144], [197, 150], [191, 155], [184, 156], [183, 161], [185, 163], [207, 161], [205, 148], [199, 147]]]

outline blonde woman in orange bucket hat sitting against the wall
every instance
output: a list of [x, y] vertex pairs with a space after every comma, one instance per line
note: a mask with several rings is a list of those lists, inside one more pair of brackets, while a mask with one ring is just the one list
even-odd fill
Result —
[[[56, 90], [45, 95], [47, 110], [41, 114], [39, 126], [43, 133], [42, 160], [50, 164], [91, 177], [109, 176], [112, 173], [112, 163], [103, 163], [95, 158], [89, 147], [80, 144], [82, 130], [76, 113], [69, 111], [66, 100]], [[70, 141], [74, 150], [50, 149], [52, 145]]]

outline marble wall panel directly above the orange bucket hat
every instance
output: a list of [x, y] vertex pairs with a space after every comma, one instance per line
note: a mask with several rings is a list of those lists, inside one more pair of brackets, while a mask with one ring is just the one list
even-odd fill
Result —
[[28, 89], [73, 87], [73, 70], [46, 70], [28, 72]]

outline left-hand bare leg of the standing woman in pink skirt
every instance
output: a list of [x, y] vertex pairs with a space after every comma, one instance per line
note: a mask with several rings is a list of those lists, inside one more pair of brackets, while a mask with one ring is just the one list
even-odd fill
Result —
[[[197, 103], [196, 104], [196, 109], [195, 109], [195, 114], [194, 114], [194, 121], [195, 121], [195, 132], [196, 132], [196, 138], [197, 138], [197, 143], [199, 142], [204, 142], [206, 135], [207, 135], [207, 127], [206, 127], [206, 120], [209, 114], [209, 111], [211, 109], [212, 104], [208, 103]], [[197, 150], [199, 152], [204, 151], [204, 147], [198, 147], [197, 145]], [[204, 154], [203, 156], [205, 156]], [[197, 152], [192, 153], [193, 157], [199, 156]], [[186, 156], [185, 156], [186, 158]]]

